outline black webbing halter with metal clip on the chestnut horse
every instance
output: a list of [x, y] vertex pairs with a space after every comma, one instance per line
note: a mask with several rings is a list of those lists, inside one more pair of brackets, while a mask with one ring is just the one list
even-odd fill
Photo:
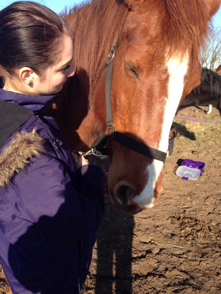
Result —
[[112, 140], [112, 141], [117, 141], [118, 143], [142, 155], [165, 162], [167, 153], [154, 149], [152, 147], [149, 147], [138, 141], [135, 141], [125, 136], [124, 134], [116, 131], [116, 127], [114, 126], [114, 122], [113, 122], [112, 107], [111, 107], [111, 76], [112, 76], [113, 60], [114, 60], [114, 55], [115, 55], [117, 46], [118, 46], [118, 42], [116, 42], [111, 48], [111, 51], [100, 73], [100, 77], [101, 77], [104, 70], [107, 68], [106, 82], [105, 82], [107, 130], [104, 133], [100, 134], [98, 138], [93, 142], [93, 144], [91, 145], [90, 151], [86, 153], [83, 153], [83, 152], [79, 152], [79, 153], [80, 155], [86, 156], [90, 154], [95, 154], [95, 151], [99, 151], [101, 155], [102, 154], [108, 155], [108, 149], [105, 148], [104, 145], [106, 144], [108, 140]]

